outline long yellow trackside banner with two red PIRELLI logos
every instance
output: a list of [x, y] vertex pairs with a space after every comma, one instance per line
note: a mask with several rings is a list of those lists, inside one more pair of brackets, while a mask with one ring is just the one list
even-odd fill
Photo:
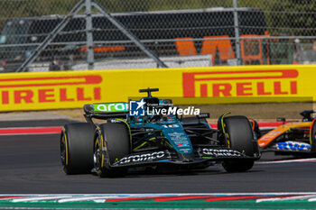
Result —
[[127, 102], [147, 87], [178, 105], [315, 101], [316, 65], [0, 74], [0, 111]]

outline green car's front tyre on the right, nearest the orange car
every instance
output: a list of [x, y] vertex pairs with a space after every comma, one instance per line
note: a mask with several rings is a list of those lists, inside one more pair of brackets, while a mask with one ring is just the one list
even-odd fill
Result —
[[[248, 119], [245, 116], [229, 116], [224, 118], [223, 123], [228, 137], [228, 147], [254, 157], [254, 132]], [[255, 160], [225, 160], [222, 165], [228, 172], [241, 172], [251, 169], [254, 162]]]

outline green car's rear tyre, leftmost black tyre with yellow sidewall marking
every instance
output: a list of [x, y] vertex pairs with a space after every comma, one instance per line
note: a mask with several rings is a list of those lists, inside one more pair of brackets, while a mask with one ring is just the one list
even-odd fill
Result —
[[93, 137], [90, 123], [66, 124], [60, 136], [60, 157], [66, 174], [85, 174], [93, 169]]

